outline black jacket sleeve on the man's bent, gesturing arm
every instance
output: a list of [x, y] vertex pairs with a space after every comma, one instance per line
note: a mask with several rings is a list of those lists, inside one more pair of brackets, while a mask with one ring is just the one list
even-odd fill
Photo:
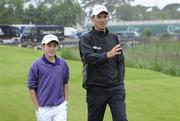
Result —
[[82, 36], [79, 42], [80, 55], [83, 63], [98, 64], [108, 60], [107, 53], [95, 53], [90, 39]]

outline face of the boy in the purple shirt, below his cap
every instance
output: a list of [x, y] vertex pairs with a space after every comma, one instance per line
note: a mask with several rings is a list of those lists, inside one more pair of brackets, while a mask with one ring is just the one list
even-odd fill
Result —
[[56, 55], [56, 51], [58, 49], [58, 44], [55, 41], [51, 41], [48, 44], [44, 44], [42, 46], [44, 54], [46, 57], [52, 58]]

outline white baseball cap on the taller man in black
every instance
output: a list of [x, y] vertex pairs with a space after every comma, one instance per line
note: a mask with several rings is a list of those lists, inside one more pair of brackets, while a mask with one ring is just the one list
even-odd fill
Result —
[[92, 9], [92, 15], [98, 15], [100, 14], [101, 12], [106, 12], [108, 14], [108, 10], [106, 8], [106, 6], [104, 5], [95, 5], [94, 8]]

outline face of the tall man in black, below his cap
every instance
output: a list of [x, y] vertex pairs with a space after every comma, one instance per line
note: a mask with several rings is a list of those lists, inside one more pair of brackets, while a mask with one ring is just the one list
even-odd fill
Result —
[[106, 12], [101, 12], [97, 16], [92, 17], [94, 27], [97, 31], [105, 31], [107, 27], [109, 16]]

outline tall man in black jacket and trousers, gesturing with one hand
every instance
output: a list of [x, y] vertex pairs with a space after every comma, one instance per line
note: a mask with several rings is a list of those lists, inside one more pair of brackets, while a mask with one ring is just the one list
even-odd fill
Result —
[[107, 105], [113, 121], [127, 121], [124, 56], [118, 37], [107, 29], [108, 19], [107, 8], [96, 5], [92, 10], [92, 30], [79, 42], [88, 121], [103, 121]]

